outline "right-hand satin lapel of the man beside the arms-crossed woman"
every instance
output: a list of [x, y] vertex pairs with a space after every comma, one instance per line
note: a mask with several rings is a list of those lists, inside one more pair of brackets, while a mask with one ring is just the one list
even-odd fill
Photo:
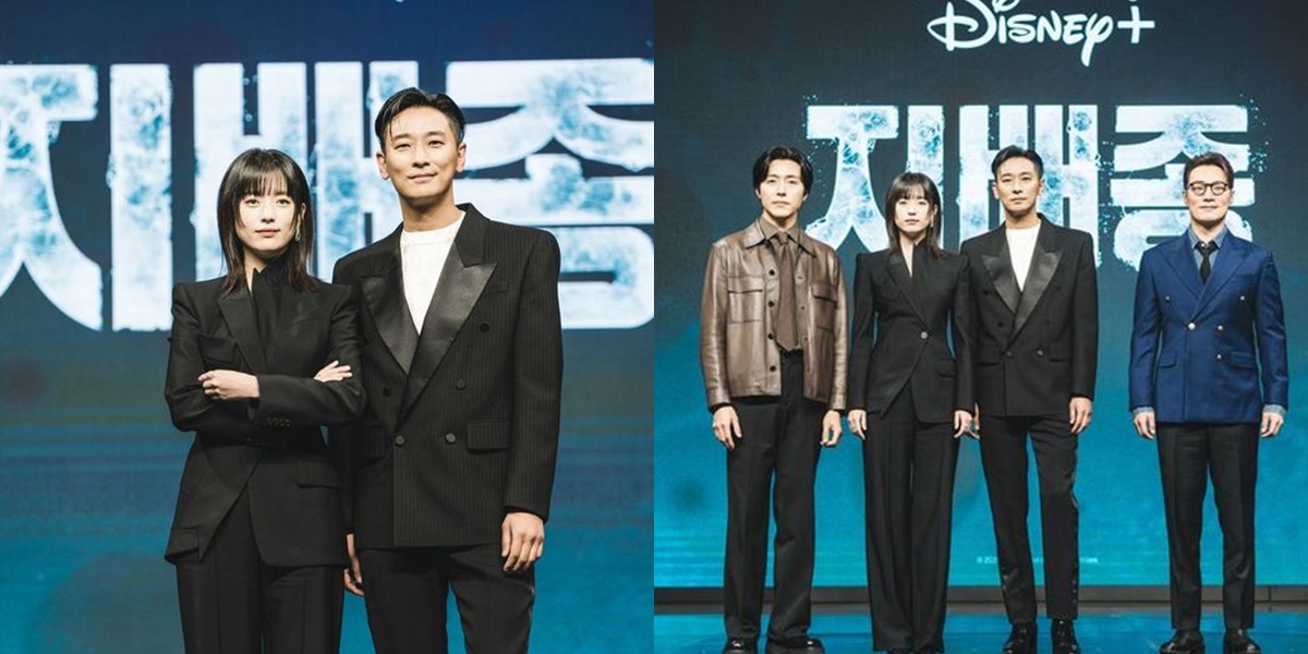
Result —
[[441, 268], [441, 279], [436, 283], [436, 293], [432, 296], [426, 318], [422, 319], [422, 334], [417, 339], [417, 352], [413, 354], [408, 383], [404, 386], [400, 420], [432, 381], [450, 344], [463, 328], [463, 322], [481, 297], [487, 280], [494, 272], [494, 262], [481, 263], [484, 233], [485, 218], [468, 211], [463, 226], [459, 228], [459, 235], [454, 238], [454, 247], [450, 247], [445, 268]]

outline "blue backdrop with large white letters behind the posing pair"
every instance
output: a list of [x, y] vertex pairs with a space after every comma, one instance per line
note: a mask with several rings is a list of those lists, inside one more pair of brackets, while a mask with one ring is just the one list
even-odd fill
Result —
[[[640, 3], [7, 7], [0, 653], [181, 650], [162, 551], [191, 436], [162, 399], [169, 289], [218, 273], [217, 182], [249, 146], [309, 173], [318, 271], [394, 229], [371, 116], [411, 84], [468, 115], [458, 200], [561, 243], [562, 438], [534, 649], [647, 644], [651, 39]], [[362, 602], [345, 612], [343, 651], [371, 651]]]

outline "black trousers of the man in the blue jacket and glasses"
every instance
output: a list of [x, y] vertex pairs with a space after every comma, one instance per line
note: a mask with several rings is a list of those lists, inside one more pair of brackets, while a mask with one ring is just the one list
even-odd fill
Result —
[[1158, 425], [1163, 472], [1172, 627], [1199, 628], [1199, 536], [1203, 496], [1213, 498], [1222, 526], [1222, 613], [1227, 629], [1253, 627], [1253, 496], [1258, 479], [1258, 425]]

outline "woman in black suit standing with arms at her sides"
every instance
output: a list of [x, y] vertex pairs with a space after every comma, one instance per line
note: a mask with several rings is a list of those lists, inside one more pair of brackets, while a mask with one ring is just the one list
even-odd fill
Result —
[[972, 297], [967, 260], [940, 250], [931, 178], [895, 178], [886, 229], [891, 246], [855, 263], [849, 362], [872, 649], [935, 653], [944, 651], [957, 439], [972, 424]]

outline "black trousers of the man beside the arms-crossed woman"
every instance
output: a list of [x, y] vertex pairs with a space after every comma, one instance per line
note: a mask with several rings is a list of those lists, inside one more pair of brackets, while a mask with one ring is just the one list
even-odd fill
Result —
[[527, 651], [535, 568], [504, 572], [500, 544], [361, 549], [364, 603], [377, 654], [443, 654], [454, 591], [468, 654]]

